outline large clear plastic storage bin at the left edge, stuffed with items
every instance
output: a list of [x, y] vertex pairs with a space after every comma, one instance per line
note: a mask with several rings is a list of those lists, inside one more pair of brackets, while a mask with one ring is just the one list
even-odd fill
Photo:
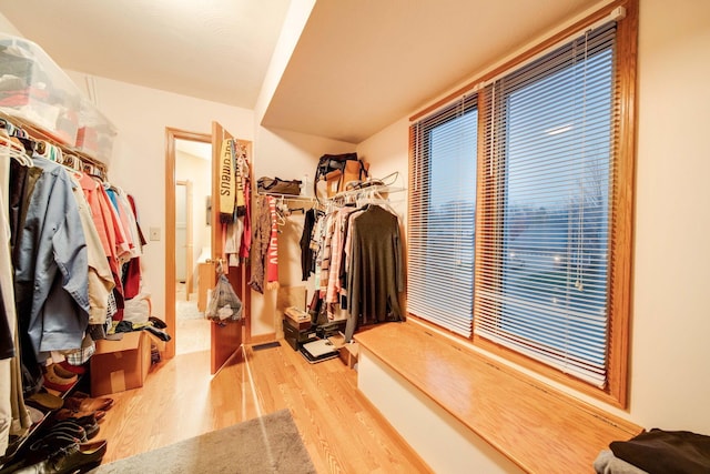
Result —
[[0, 110], [74, 147], [81, 92], [36, 43], [0, 34]]

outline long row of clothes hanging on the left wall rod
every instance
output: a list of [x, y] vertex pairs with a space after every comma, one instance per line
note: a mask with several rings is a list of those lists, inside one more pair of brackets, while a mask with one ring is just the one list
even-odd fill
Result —
[[[112, 330], [123, 301], [140, 289], [146, 242], [135, 202], [105, 172], [89, 175], [85, 167], [0, 118], [0, 239], [8, 242], [0, 255], [0, 385], [10, 391], [0, 400], [12, 402], [11, 432], [0, 402], [0, 447], [30, 427], [23, 400], [49, 386], [48, 364], [85, 363], [93, 340]], [[105, 169], [90, 171], [98, 170]]]

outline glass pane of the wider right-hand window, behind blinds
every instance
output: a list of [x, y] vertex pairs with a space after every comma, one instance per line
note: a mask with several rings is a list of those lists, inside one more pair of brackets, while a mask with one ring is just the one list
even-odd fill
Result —
[[596, 363], [606, 341], [610, 91], [607, 51], [507, 98], [501, 326]]

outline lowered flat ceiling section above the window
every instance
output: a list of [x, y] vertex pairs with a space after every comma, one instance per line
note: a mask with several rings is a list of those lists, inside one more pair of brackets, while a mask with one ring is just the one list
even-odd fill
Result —
[[358, 143], [597, 3], [317, 1], [263, 124]]

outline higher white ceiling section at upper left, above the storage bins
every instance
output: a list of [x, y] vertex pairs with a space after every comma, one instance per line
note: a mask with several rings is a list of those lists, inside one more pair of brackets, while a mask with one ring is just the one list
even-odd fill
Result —
[[288, 0], [0, 0], [62, 68], [253, 109]]

